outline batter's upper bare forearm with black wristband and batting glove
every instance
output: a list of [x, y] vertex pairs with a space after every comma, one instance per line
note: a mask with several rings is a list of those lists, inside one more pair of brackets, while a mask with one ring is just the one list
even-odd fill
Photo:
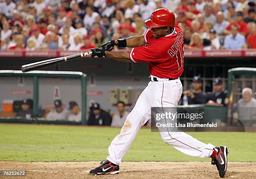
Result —
[[128, 37], [126, 39], [111, 40], [101, 45], [106, 51], [111, 51], [113, 47], [141, 47], [145, 43], [144, 35]]

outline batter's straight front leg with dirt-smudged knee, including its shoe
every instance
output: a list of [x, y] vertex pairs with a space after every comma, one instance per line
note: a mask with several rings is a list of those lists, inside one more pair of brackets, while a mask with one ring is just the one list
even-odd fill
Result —
[[125, 123], [110, 146], [109, 156], [101, 165], [90, 171], [90, 174], [116, 174], [119, 173], [119, 164], [125, 153], [130, 148], [139, 129], [151, 117], [151, 107], [147, 99], [148, 87], [141, 93], [133, 110], [126, 117]]

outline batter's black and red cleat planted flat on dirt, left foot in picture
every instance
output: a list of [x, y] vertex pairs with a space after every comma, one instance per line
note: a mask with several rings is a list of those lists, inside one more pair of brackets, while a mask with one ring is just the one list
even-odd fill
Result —
[[115, 165], [108, 160], [100, 162], [100, 166], [90, 171], [91, 175], [103, 175], [103, 174], [119, 174], [119, 165]]

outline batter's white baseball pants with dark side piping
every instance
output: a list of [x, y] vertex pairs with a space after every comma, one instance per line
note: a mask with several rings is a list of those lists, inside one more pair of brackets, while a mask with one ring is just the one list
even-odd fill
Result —
[[[110, 162], [120, 164], [141, 126], [151, 118], [151, 107], [177, 107], [182, 94], [182, 83], [179, 79], [163, 80], [165, 81], [149, 82], [141, 93], [133, 110], [127, 116], [120, 134], [108, 147], [107, 159]], [[209, 158], [215, 147], [212, 144], [204, 144], [184, 132], [160, 132], [160, 134], [164, 142], [190, 156]]]

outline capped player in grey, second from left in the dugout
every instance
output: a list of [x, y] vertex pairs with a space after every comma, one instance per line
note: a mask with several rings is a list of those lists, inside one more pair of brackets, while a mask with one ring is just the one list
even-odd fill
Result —
[[54, 101], [54, 110], [49, 112], [46, 116], [46, 119], [48, 120], [59, 120], [64, 121], [67, 120], [69, 116], [69, 111], [67, 109], [64, 109], [62, 106], [62, 102], [60, 99], [56, 99]]

